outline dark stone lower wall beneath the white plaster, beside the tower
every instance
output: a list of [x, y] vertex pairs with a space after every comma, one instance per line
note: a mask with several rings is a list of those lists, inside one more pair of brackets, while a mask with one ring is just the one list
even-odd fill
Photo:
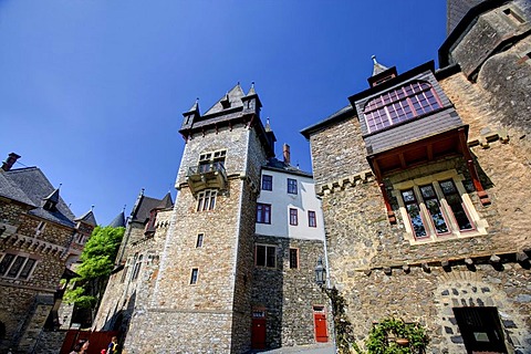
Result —
[[[254, 267], [252, 278], [252, 308], [266, 311], [267, 347], [314, 344], [314, 305], [326, 309], [332, 342], [329, 300], [315, 284], [316, 261], [324, 257], [323, 242], [260, 235], [254, 241], [277, 247], [277, 268]], [[296, 269], [290, 269], [290, 248], [299, 250]]]

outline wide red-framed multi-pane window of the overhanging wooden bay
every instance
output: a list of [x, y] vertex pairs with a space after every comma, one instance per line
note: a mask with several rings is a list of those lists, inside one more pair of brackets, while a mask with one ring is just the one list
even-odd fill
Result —
[[368, 101], [363, 114], [372, 133], [437, 108], [440, 102], [431, 85], [415, 81]]

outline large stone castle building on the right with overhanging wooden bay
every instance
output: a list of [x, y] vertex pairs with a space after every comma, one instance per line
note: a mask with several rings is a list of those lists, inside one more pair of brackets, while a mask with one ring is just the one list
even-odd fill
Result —
[[399, 317], [430, 353], [530, 353], [531, 3], [451, 0], [448, 31], [439, 70], [373, 58], [301, 132], [331, 283], [358, 339]]

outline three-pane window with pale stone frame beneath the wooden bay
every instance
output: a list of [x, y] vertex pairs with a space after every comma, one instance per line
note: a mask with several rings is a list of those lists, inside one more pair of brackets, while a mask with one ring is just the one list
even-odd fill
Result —
[[462, 186], [462, 176], [445, 171], [394, 184], [400, 214], [410, 241], [487, 233]]

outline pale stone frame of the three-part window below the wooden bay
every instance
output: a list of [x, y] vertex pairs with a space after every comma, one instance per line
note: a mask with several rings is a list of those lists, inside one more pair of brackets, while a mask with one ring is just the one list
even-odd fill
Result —
[[[467, 214], [470, 220], [470, 223], [472, 225], [472, 229], [470, 230], [462, 230], [462, 231], [459, 230], [459, 226], [457, 225], [457, 221], [454, 218], [454, 212], [451, 211], [451, 208], [446, 201], [446, 197], [439, 187], [439, 184], [438, 184], [439, 181], [444, 181], [448, 179], [451, 179], [454, 181], [457, 188], [457, 191], [461, 197], [465, 212]], [[392, 191], [392, 195], [398, 201], [400, 216], [404, 221], [404, 227], [406, 229], [406, 232], [404, 233], [404, 238], [408, 240], [409, 243], [415, 244], [415, 243], [425, 243], [425, 242], [437, 242], [437, 241], [442, 241], [447, 239], [469, 238], [469, 237], [476, 237], [479, 235], [487, 235], [487, 228], [489, 227], [489, 225], [487, 220], [481, 219], [479, 214], [476, 211], [472, 200], [470, 199], [470, 196], [467, 194], [462, 185], [464, 180], [465, 180], [465, 177], [462, 175], [458, 174], [457, 170], [455, 169], [450, 169], [442, 173], [393, 184], [394, 190]], [[435, 227], [430, 221], [431, 217], [426, 208], [426, 205], [424, 202], [424, 199], [419, 190], [419, 187], [425, 185], [434, 186], [435, 192], [440, 202], [440, 209], [445, 215], [445, 220], [449, 229], [449, 232], [447, 233], [437, 235]], [[423, 223], [424, 223], [424, 227], [426, 228], [426, 233], [427, 233], [426, 237], [423, 237], [423, 238], [415, 237], [415, 231], [412, 227], [409, 214], [407, 212], [406, 206], [402, 198], [402, 190], [407, 190], [407, 189], [413, 189], [415, 192], [415, 197], [417, 199], [417, 202], [420, 209], [420, 217], [423, 218]]]

